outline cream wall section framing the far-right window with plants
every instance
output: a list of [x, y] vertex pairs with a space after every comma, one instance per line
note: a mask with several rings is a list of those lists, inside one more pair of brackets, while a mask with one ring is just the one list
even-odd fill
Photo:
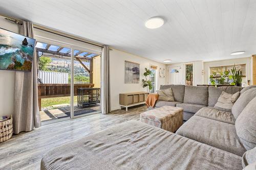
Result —
[[[246, 64], [246, 82], [252, 80], [251, 77], [251, 57], [238, 58], [232, 60], [210, 61], [204, 62], [204, 84], [209, 82], [209, 67], [221, 66], [221, 65], [233, 65], [233, 64]], [[252, 81], [250, 81], [252, 83]]]

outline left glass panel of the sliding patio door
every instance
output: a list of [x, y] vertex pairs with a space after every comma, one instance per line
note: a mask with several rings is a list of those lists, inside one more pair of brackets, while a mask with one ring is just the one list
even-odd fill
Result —
[[37, 42], [38, 105], [42, 123], [70, 118], [71, 47]]

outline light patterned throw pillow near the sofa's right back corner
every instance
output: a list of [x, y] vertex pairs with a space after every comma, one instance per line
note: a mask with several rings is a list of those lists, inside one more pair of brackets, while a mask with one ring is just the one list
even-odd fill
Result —
[[236, 102], [237, 99], [239, 98], [239, 95], [240, 95], [240, 92], [231, 94], [231, 93], [222, 91], [214, 107], [222, 108], [225, 110], [231, 110], [234, 105], [234, 102]]

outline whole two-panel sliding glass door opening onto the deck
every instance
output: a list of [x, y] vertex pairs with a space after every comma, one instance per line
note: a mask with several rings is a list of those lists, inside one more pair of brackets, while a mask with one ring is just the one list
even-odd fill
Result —
[[41, 41], [36, 53], [43, 124], [100, 112], [100, 51]]

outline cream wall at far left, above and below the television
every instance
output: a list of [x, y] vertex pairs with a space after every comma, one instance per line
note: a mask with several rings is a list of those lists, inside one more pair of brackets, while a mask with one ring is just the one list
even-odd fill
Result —
[[[0, 16], [0, 26], [3, 29], [18, 33], [18, 26]], [[0, 70], [0, 116], [13, 113], [15, 71]]]

